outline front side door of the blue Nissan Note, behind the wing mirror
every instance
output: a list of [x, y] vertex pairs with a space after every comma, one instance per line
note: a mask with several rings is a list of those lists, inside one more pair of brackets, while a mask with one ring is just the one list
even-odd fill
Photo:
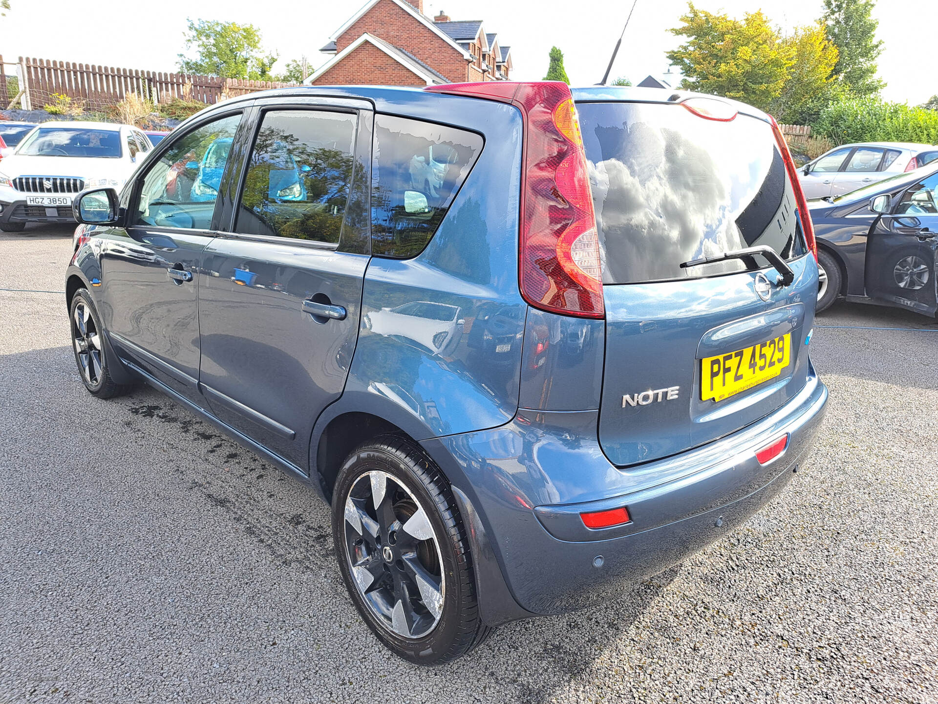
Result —
[[102, 314], [122, 355], [202, 406], [198, 392], [198, 271], [215, 237], [218, 192], [174, 190], [174, 164], [231, 141], [241, 114], [214, 117], [166, 140], [137, 179], [128, 224], [103, 238]]

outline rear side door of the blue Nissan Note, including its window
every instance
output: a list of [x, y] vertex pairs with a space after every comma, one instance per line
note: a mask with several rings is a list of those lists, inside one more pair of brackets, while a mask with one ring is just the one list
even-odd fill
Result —
[[345, 385], [370, 256], [372, 115], [351, 105], [255, 110], [240, 192], [222, 184], [231, 234], [205, 249], [200, 279], [209, 406], [304, 471], [312, 425]]

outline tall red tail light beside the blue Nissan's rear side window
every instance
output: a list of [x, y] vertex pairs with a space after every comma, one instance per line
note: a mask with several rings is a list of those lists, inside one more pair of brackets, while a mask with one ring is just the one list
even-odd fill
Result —
[[573, 96], [556, 81], [432, 85], [436, 93], [508, 102], [524, 115], [519, 281], [545, 311], [601, 318], [602, 270], [586, 152]]

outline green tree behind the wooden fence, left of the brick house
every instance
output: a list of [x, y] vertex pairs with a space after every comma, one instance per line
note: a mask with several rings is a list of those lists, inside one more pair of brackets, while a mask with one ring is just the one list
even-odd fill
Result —
[[196, 58], [179, 54], [179, 69], [222, 78], [269, 81], [270, 69], [278, 54], [261, 48], [261, 33], [253, 24], [199, 20], [189, 22], [186, 50], [195, 49]]

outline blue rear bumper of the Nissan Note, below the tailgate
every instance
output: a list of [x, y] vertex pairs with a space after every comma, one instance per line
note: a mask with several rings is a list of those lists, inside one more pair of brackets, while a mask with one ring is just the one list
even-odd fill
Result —
[[[809, 369], [804, 390], [761, 421], [628, 469], [614, 467], [599, 449], [595, 411], [519, 411], [507, 426], [426, 442], [492, 544], [491, 555], [477, 561], [497, 560], [504, 578], [504, 589], [480, 585], [483, 618], [496, 623], [582, 608], [718, 540], [790, 481], [826, 401], [825, 385]], [[755, 452], [785, 433], [785, 451], [760, 465]], [[582, 525], [582, 512], [621, 506], [631, 517], [625, 526]], [[487, 593], [510, 593], [515, 604], [487, 604]]]

